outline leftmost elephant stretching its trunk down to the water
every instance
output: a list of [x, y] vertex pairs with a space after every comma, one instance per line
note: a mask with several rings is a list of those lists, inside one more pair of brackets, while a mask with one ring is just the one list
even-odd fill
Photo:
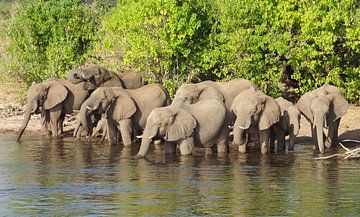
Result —
[[62, 124], [66, 114], [78, 110], [89, 96], [89, 91], [83, 89], [84, 83], [72, 84], [67, 80], [49, 79], [39, 84], [33, 84], [27, 92], [27, 104], [24, 120], [20, 127], [17, 140], [20, 140], [30, 120], [31, 114], [41, 113], [42, 128], [50, 124], [51, 135], [62, 133]]

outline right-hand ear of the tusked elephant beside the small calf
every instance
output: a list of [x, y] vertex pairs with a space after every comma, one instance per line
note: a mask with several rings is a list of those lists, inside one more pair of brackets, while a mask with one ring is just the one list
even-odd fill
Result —
[[270, 128], [279, 122], [281, 115], [280, 106], [275, 99], [265, 95], [264, 110], [259, 121], [259, 130]]

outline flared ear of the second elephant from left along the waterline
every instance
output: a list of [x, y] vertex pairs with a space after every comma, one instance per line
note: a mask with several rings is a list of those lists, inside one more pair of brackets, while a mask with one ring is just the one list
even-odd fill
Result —
[[[111, 91], [111, 90], [109, 90]], [[127, 94], [126, 92], [122, 92], [120, 94], [114, 95], [112, 97], [106, 94], [106, 97], [109, 97], [112, 101], [112, 105], [109, 108], [110, 113], [108, 112], [108, 116], [110, 115], [115, 120], [123, 120], [129, 119], [136, 112], [136, 105], [134, 100]]]

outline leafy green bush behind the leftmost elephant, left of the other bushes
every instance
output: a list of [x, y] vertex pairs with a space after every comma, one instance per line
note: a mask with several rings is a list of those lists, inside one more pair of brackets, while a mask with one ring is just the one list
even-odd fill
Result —
[[98, 22], [80, 0], [28, 2], [9, 25], [10, 70], [27, 83], [64, 77], [88, 57]]

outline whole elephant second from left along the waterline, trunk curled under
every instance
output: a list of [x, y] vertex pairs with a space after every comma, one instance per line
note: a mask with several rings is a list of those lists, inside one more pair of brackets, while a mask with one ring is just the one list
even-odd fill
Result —
[[91, 113], [105, 114], [110, 143], [117, 142], [117, 134], [125, 146], [132, 143], [132, 136], [141, 132], [152, 109], [170, 104], [167, 90], [160, 84], [145, 85], [134, 90], [121, 87], [99, 87], [80, 109], [80, 123], [89, 129]]

